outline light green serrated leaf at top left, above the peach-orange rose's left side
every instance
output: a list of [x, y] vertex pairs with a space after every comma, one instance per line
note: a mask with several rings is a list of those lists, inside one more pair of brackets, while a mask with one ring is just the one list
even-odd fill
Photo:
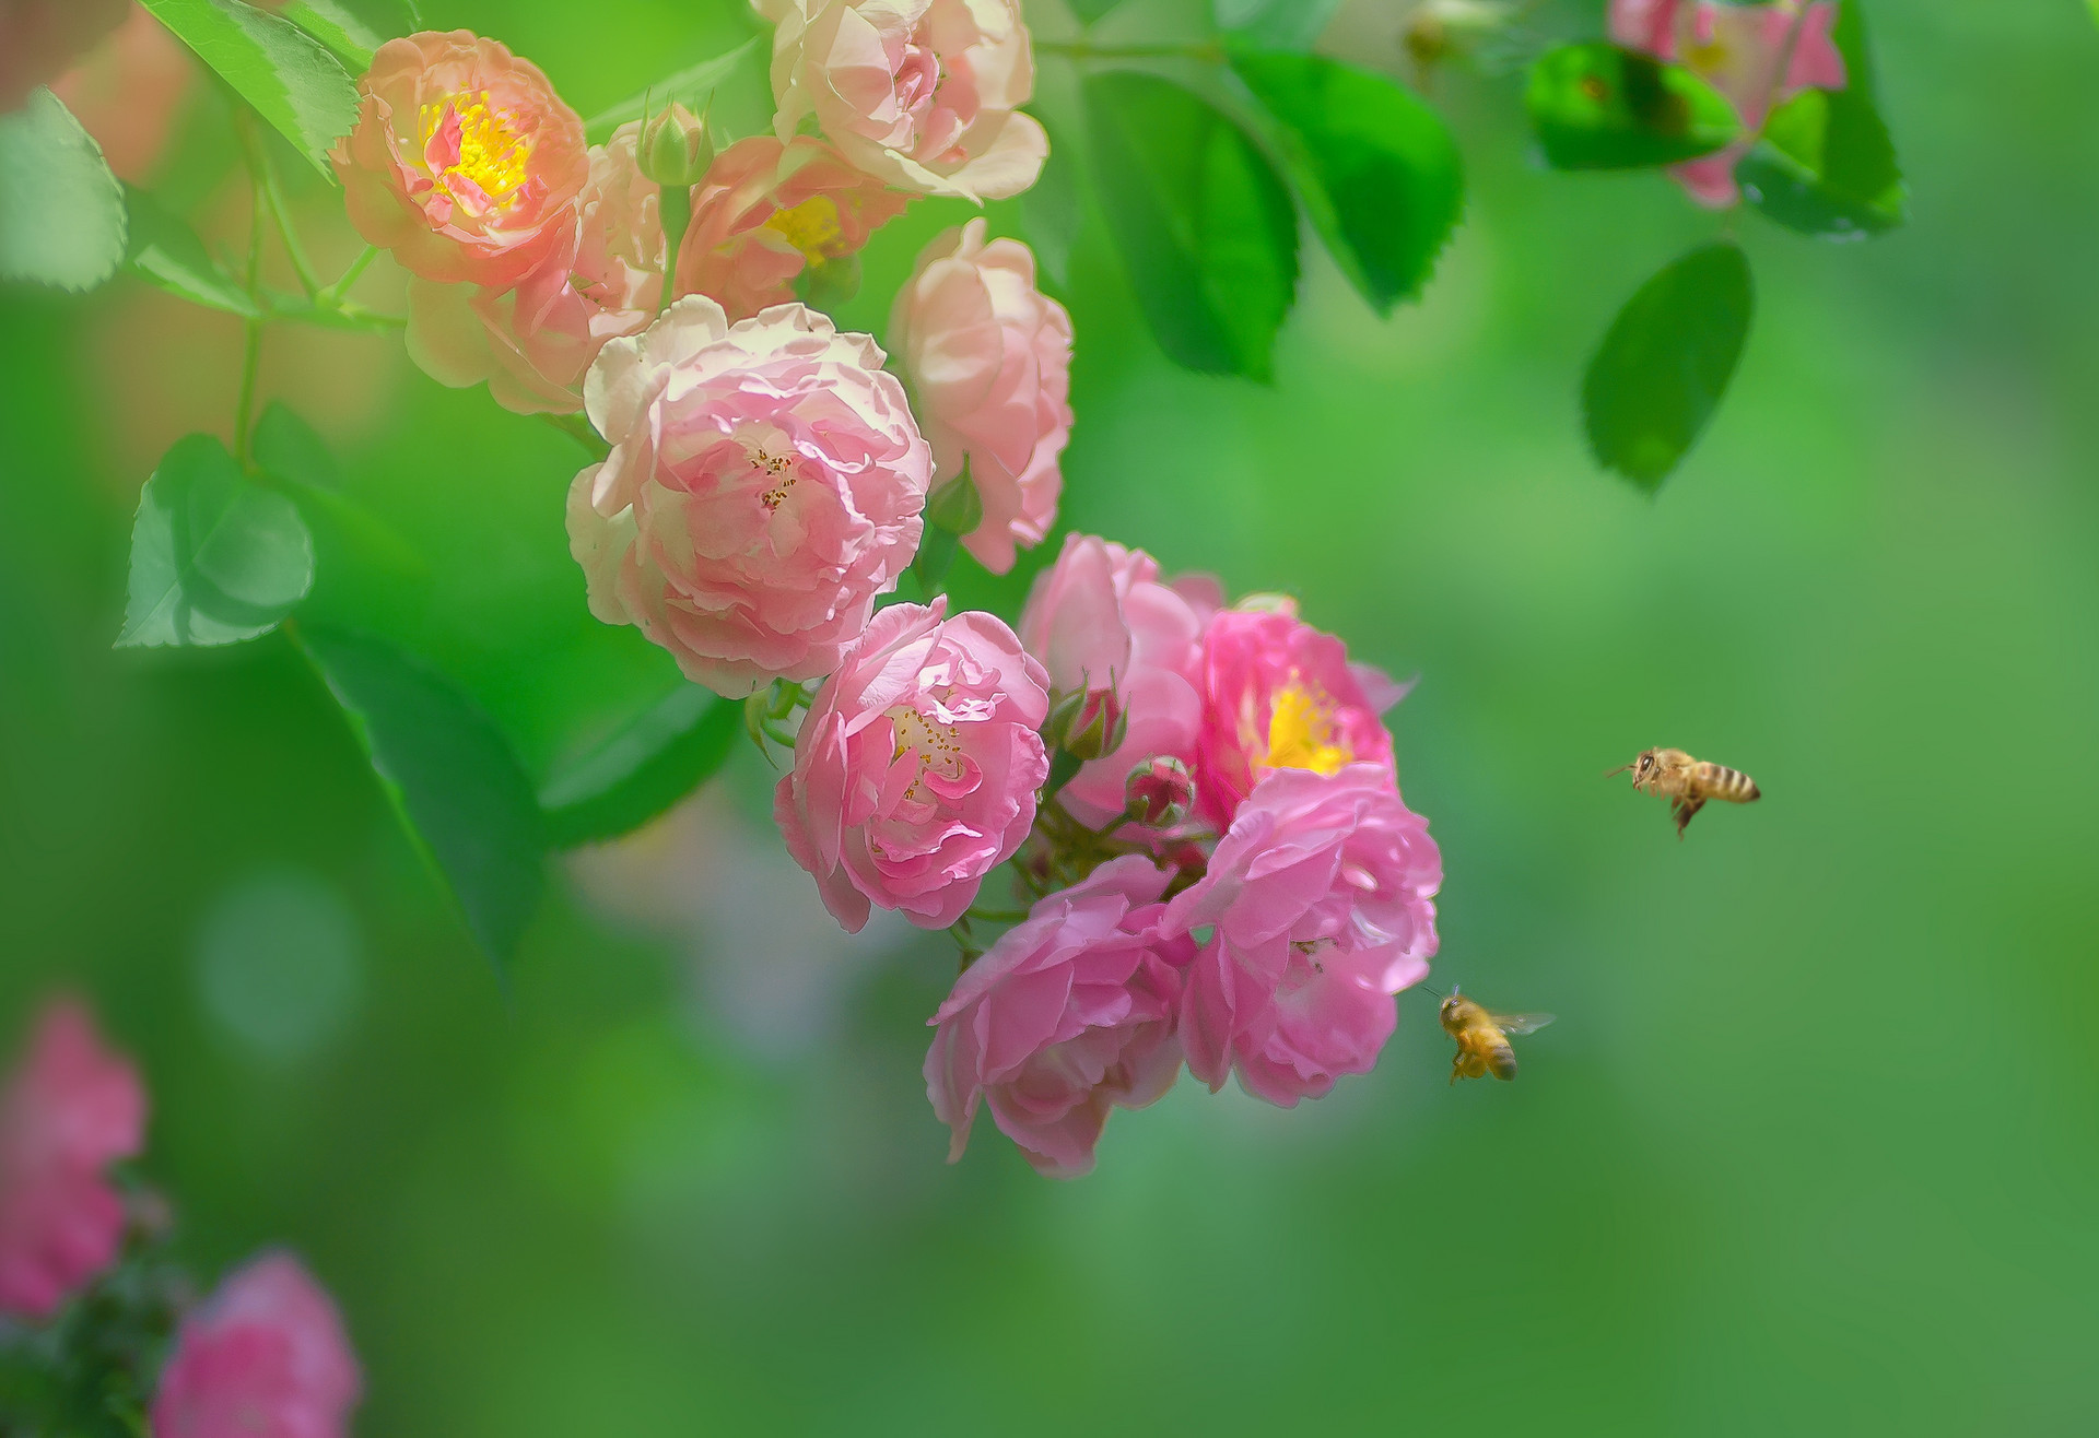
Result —
[[327, 147], [357, 124], [357, 86], [319, 40], [241, 0], [143, 0], [162, 25], [334, 178]]

